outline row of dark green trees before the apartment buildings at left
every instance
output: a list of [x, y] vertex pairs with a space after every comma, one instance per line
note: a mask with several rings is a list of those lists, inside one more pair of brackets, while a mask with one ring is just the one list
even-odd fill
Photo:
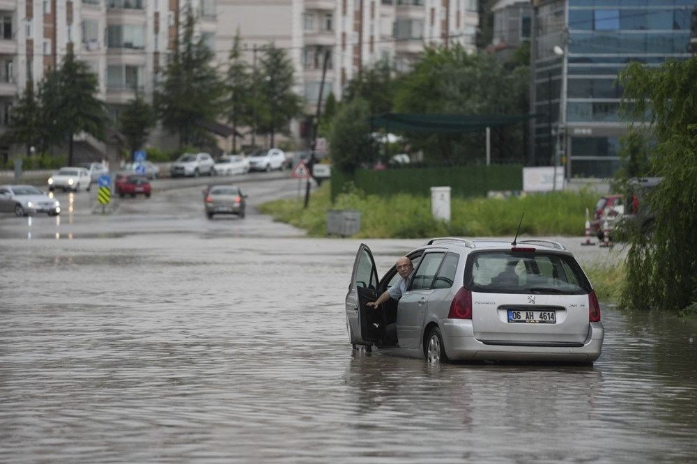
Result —
[[123, 134], [130, 155], [141, 148], [158, 123], [178, 136], [179, 146], [214, 144], [206, 123], [226, 121], [233, 127], [233, 150], [237, 136], [252, 132], [268, 135], [287, 133], [289, 122], [302, 111], [302, 99], [293, 91], [293, 64], [284, 49], [273, 44], [259, 49], [259, 63], [243, 57], [239, 33], [227, 63], [220, 72], [214, 52], [194, 33], [194, 15], [185, 14], [181, 34], [169, 56], [152, 104], [138, 88], [116, 121], [98, 98], [98, 77], [68, 49], [63, 62], [43, 79], [26, 82], [13, 107], [3, 142], [31, 147], [45, 153], [56, 146], [68, 150], [73, 164], [75, 134], [85, 132], [105, 140], [113, 127]]

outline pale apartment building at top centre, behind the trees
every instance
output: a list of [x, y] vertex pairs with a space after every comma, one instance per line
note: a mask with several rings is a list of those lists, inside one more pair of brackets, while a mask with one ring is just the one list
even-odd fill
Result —
[[341, 98], [349, 79], [378, 59], [407, 70], [427, 44], [475, 49], [476, 0], [217, 0], [217, 56], [227, 59], [237, 31], [247, 59], [268, 43], [289, 51], [296, 91], [313, 112], [324, 57], [324, 96]]

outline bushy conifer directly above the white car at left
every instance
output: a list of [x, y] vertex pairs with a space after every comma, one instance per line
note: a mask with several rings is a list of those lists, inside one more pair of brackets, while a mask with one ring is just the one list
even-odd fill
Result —
[[49, 143], [68, 142], [68, 165], [72, 166], [75, 134], [86, 132], [104, 139], [107, 110], [97, 98], [97, 76], [68, 49], [57, 69], [49, 70], [40, 84], [44, 127]]

